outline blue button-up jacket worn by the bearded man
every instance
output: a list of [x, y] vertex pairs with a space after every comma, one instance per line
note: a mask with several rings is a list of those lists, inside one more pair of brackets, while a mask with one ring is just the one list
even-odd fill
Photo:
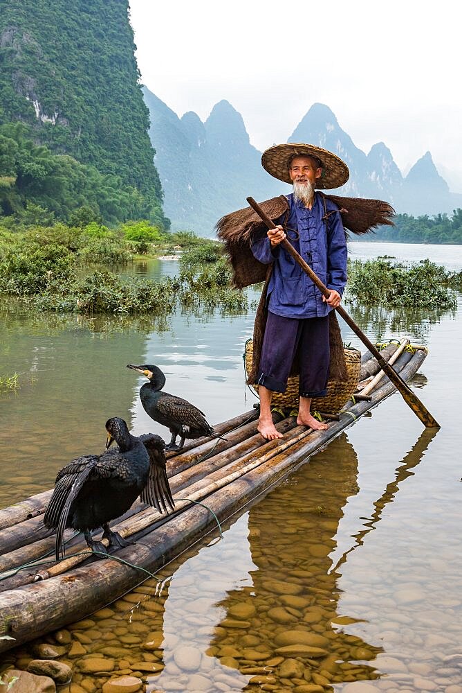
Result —
[[[335, 289], [342, 296], [347, 283], [347, 241], [340, 212], [329, 216], [326, 229], [320, 195], [315, 194], [312, 209], [306, 209], [300, 201], [295, 202], [291, 193], [286, 197], [290, 207], [286, 222], [288, 240], [326, 287]], [[339, 208], [326, 199], [326, 209], [329, 213]], [[275, 223], [282, 224], [285, 218], [284, 214]], [[296, 238], [295, 231], [298, 231], [299, 238]], [[252, 253], [264, 265], [274, 262], [266, 301], [271, 313], [306, 318], [325, 317], [332, 310], [302, 267], [284, 248], [279, 245], [272, 248], [268, 236], [252, 240]]]

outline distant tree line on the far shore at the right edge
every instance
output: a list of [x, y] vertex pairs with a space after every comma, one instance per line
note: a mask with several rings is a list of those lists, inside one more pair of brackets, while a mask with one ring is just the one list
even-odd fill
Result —
[[[452, 216], [414, 217], [397, 214], [394, 227], [382, 226], [374, 234], [359, 240], [376, 240], [383, 243], [451, 243], [462, 245], [462, 209], [454, 209]], [[358, 240], [358, 239], [352, 239]]]

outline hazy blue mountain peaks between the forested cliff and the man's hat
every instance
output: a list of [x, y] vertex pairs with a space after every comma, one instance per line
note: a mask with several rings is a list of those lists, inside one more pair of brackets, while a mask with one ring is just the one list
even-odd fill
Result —
[[172, 229], [207, 236], [223, 214], [246, 207], [247, 195], [264, 200], [281, 193], [281, 184], [261, 168], [261, 152], [250, 145], [242, 117], [228, 101], [217, 103], [202, 123], [193, 112], [179, 119], [144, 91]]

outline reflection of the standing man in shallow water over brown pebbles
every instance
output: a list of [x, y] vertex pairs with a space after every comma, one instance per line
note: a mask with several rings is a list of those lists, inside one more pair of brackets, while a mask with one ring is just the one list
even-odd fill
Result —
[[[338, 574], [331, 572], [329, 555], [347, 498], [358, 493], [357, 473], [355, 451], [342, 435], [252, 506], [249, 541], [257, 570], [253, 588], [234, 590], [220, 604], [227, 615], [212, 646], [223, 664], [248, 676], [260, 668], [261, 676], [272, 678], [262, 683], [277, 690], [308, 683], [333, 690], [335, 683], [377, 678], [371, 667], [351, 663], [381, 650], [342, 631]], [[240, 611], [247, 613], [245, 629], [236, 627]], [[303, 647], [297, 651], [293, 643], [290, 649], [298, 638]]]

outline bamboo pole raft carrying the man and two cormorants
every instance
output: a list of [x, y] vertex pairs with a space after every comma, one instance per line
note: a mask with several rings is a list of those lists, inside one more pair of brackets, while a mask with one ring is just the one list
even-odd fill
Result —
[[[394, 349], [395, 345], [389, 347], [389, 351]], [[362, 358], [362, 376], [378, 370], [375, 359], [368, 356]], [[404, 351], [394, 368], [409, 380], [425, 356], [423, 349]], [[330, 421], [326, 431], [311, 432], [297, 426], [293, 416], [283, 419], [277, 414], [277, 428], [284, 438], [269, 442], [257, 432], [257, 412], [252, 410], [215, 426], [226, 440], [198, 439], [185, 445], [180, 454], [169, 455], [174, 514], [165, 517], [153, 508], [135, 505], [114, 525], [122, 536], [136, 541], [116, 556], [138, 568], [111, 559], [89, 560], [83, 537], [70, 531], [66, 559], [55, 563], [55, 536], [42, 523], [51, 491], [0, 510], [0, 570], [5, 578], [0, 581], [0, 635], [15, 638], [0, 640], [0, 651], [109, 604], [147, 577], [140, 568], [155, 572], [185, 547], [216, 530], [214, 514], [223, 521], [237, 513], [393, 392], [394, 385], [383, 378], [370, 392], [371, 401], [349, 401], [339, 420]], [[73, 556], [77, 552], [83, 555]], [[42, 559], [39, 565], [30, 565], [38, 559]]]

